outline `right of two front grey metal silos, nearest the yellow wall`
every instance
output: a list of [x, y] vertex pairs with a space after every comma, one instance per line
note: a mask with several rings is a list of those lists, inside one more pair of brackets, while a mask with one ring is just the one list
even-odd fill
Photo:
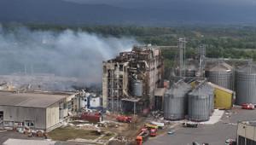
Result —
[[210, 119], [209, 95], [204, 89], [196, 89], [189, 93], [189, 120], [207, 121]]

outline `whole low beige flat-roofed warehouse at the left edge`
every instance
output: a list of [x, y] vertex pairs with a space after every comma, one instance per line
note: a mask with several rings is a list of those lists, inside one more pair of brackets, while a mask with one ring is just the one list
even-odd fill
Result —
[[74, 95], [0, 92], [0, 128], [50, 131], [72, 111]]

